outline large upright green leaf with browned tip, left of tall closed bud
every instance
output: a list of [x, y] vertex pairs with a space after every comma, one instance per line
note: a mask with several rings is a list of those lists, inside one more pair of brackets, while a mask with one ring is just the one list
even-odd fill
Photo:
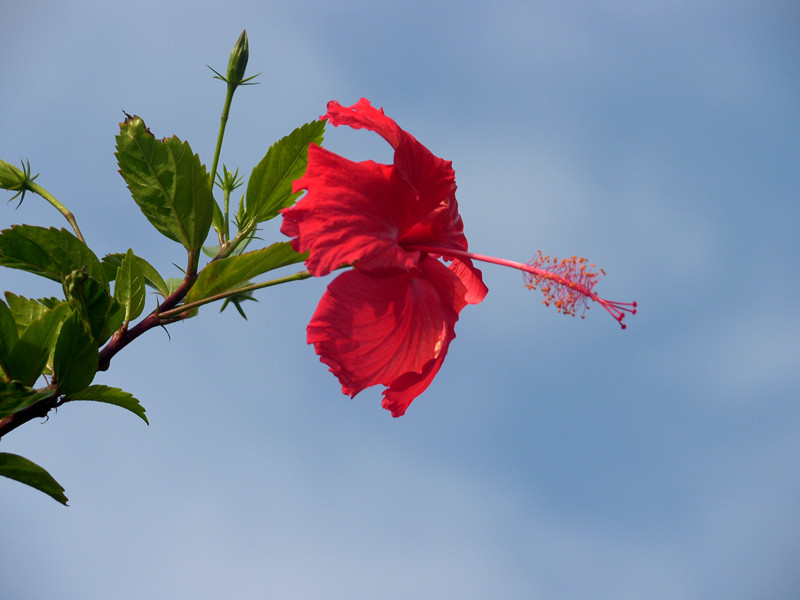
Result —
[[140, 117], [125, 119], [117, 163], [150, 223], [189, 251], [202, 246], [213, 218], [211, 177], [187, 142], [157, 140]]

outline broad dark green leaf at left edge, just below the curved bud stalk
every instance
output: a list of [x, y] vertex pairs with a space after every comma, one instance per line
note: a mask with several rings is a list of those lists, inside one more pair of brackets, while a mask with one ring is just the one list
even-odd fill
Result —
[[61, 281], [76, 269], [108, 288], [103, 265], [89, 248], [66, 229], [14, 225], [0, 232], [0, 265]]

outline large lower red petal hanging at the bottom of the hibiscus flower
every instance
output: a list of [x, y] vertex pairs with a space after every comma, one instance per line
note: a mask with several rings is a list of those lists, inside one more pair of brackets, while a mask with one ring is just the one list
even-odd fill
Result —
[[308, 325], [308, 343], [353, 397], [389, 387], [384, 405], [400, 416], [433, 380], [466, 289], [444, 265], [423, 260], [416, 272], [375, 277], [353, 270], [328, 286]]

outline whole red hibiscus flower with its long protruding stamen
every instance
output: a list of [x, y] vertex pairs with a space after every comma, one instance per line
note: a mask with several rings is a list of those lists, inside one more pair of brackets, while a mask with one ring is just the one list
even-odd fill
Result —
[[281, 232], [296, 251], [309, 252], [312, 275], [353, 267], [331, 282], [307, 328], [308, 343], [345, 394], [381, 384], [383, 407], [394, 417], [406, 412], [442, 366], [461, 309], [486, 296], [473, 259], [522, 270], [528, 287], [540, 286], [545, 302], [567, 314], [587, 298], [620, 323], [623, 311], [635, 312], [594, 294], [597, 274], [585, 259], [558, 263], [540, 254], [526, 265], [470, 253], [451, 163], [368, 100], [330, 102], [321, 118], [374, 131], [394, 148], [393, 163], [383, 165], [312, 144], [306, 174], [294, 182], [294, 191], [307, 193], [282, 213]]

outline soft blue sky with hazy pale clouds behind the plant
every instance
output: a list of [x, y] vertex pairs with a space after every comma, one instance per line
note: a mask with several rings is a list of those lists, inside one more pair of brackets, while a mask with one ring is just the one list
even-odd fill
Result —
[[[568, 319], [487, 265], [401, 419], [306, 346], [328, 280], [153, 331], [102, 376], [149, 427], [76, 403], [3, 440], [70, 498], [0, 484], [5, 595], [796, 598], [798, 24], [763, 1], [5, 7], [0, 157], [30, 159], [99, 254], [177, 275], [116, 172], [117, 123], [210, 163], [224, 88], [205, 65], [246, 28], [263, 74], [226, 164], [248, 173], [328, 100], [370, 98], [453, 161], [471, 249], [586, 256], [641, 309], [624, 332], [599, 307]], [[363, 131], [326, 146], [391, 159]], [[3, 227], [63, 224], [14, 206]]]

